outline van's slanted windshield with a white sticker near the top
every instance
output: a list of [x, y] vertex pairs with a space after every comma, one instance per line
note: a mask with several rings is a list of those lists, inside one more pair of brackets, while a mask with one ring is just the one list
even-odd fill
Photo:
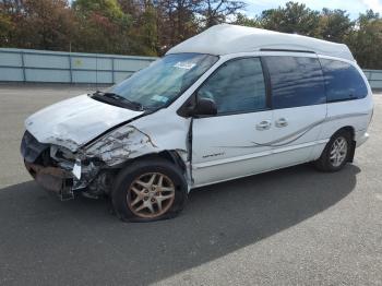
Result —
[[140, 104], [144, 109], [160, 108], [189, 88], [217, 59], [202, 53], [168, 55], [106, 92]]

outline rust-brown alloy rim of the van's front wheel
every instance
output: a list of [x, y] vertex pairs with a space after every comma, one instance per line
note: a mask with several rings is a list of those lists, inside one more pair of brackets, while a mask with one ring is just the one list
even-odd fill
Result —
[[166, 213], [175, 199], [175, 186], [160, 172], [146, 172], [130, 184], [128, 206], [136, 216], [155, 218]]

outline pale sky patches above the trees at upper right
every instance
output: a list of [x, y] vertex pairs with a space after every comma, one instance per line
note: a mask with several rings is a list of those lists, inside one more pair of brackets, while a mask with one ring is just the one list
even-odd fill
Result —
[[[321, 11], [322, 8], [347, 10], [351, 19], [357, 19], [359, 13], [368, 9], [382, 14], [382, 0], [295, 0], [305, 3], [312, 10]], [[285, 5], [288, 0], [244, 0], [248, 3], [247, 14], [254, 16], [261, 11], [279, 5]]]

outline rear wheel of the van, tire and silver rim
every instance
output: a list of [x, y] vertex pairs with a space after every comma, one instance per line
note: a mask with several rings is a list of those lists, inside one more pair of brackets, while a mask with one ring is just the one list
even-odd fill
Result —
[[329, 141], [314, 165], [321, 171], [338, 171], [344, 168], [350, 156], [351, 135], [346, 130], [339, 130]]

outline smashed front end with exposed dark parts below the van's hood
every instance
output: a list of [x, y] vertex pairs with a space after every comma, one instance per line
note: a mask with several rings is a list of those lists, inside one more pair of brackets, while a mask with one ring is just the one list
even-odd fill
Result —
[[97, 157], [88, 158], [61, 145], [40, 143], [28, 131], [24, 133], [21, 153], [31, 176], [62, 201], [73, 199], [75, 191], [96, 198], [110, 189], [114, 170], [105, 170], [105, 163]]

